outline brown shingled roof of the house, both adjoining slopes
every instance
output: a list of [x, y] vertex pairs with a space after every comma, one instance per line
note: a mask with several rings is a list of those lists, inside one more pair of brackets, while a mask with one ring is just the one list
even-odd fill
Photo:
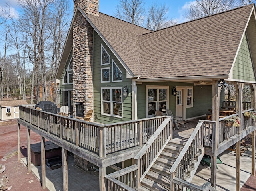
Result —
[[254, 5], [151, 32], [105, 14], [86, 14], [134, 75], [228, 75]]

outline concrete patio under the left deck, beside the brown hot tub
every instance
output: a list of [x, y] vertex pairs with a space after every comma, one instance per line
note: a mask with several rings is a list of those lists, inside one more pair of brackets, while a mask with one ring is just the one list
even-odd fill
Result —
[[[26, 158], [22, 162], [27, 165]], [[31, 164], [32, 173], [41, 179], [41, 166]], [[50, 169], [46, 166], [46, 188], [49, 191], [62, 191], [62, 168]], [[73, 156], [68, 155], [68, 190], [69, 191], [98, 191], [99, 173], [97, 171], [84, 171], [74, 165]]]

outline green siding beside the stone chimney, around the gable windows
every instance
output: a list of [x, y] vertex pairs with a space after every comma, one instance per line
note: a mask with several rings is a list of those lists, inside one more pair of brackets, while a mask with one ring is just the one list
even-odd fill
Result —
[[[108, 65], [100, 65], [100, 56], [101, 56], [101, 44], [103, 45], [104, 49], [110, 55], [110, 64]], [[101, 37], [94, 31], [94, 47], [93, 47], [93, 84], [94, 84], [94, 121], [101, 122], [105, 124], [113, 123], [113, 122], [120, 122], [120, 121], [128, 121], [131, 120], [132, 116], [132, 80], [126, 78], [126, 70], [118, 61], [118, 59], [114, 56], [114, 54], [110, 51]], [[118, 66], [118, 68], [123, 73], [123, 81], [122, 82], [112, 82], [112, 59]], [[101, 68], [110, 67], [110, 83], [101, 83]], [[127, 85], [129, 89], [129, 96], [123, 98], [123, 111], [122, 111], [122, 118], [114, 117], [114, 116], [106, 116], [101, 114], [101, 88], [102, 87], [123, 87], [123, 85]]]

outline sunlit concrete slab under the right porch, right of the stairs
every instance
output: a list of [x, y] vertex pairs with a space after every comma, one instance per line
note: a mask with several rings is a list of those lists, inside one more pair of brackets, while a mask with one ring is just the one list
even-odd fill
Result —
[[[248, 180], [251, 175], [252, 152], [251, 147], [241, 156], [240, 169], [240, 188]], [[223, 164], [218, 164], [217, 169], [217, 189], [220, 191], [236, 190], [236, 152], [226, 150], [219, 155]], [[197, 169], [197, 173], [191, 183], [202, 185], [211, 177], [211, 169], [203, 166], [202, 163]]]

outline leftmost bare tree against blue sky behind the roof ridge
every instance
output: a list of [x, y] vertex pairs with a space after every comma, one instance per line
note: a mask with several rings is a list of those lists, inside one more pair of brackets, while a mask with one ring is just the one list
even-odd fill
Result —
[[122, 20], [140, 26], [144, 22], [143, 5], [143, 0], [120, 0], [115, 15]]

